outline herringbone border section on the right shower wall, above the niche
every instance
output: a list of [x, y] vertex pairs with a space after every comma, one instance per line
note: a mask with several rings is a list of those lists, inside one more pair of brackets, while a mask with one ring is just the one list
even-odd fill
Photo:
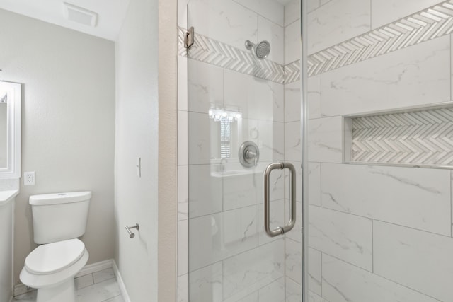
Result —
[[326, 50], [309, 55], [308, 76], [401, 50], [449, 35], [453, 31], [453, 0], [359, 35]]

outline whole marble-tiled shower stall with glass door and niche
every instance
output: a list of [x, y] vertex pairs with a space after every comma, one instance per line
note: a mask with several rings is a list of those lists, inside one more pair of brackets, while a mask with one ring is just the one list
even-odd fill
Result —
[[179, 0], [178, 302], [452, 302], [453, 0]]

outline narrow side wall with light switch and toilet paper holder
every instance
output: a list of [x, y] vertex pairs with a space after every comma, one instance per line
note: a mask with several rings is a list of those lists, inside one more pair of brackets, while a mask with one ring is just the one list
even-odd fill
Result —
[[[131, 1], [116, 43], [115, 260], [134, 302], [157, 301], [157, 6]], [[130, 239], [124, 228], [136, 222]]]

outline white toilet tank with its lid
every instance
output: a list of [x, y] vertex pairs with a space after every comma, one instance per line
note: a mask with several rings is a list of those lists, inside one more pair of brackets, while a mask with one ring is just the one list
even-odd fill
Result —
[[35, 243], [78, 238], [85, 233], [91, 192], [30, 196]]

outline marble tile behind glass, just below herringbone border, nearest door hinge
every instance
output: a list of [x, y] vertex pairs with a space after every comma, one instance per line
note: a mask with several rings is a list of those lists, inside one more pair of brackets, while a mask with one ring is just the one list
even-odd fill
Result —
[[224, 71], [212, 64], [189, 59], [188, 110], [209, 112], [224, 103]]

